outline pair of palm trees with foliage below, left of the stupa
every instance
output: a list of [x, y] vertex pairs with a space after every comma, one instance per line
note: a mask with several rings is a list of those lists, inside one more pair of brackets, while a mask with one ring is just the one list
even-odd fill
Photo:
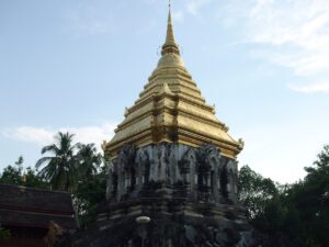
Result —
[[97, 207], [106, 190], [106, 168], [101, 167], [102, 156], [94, 144], [73, 144], [73, 135], [58, 133], [56, 143], [45, 146], [42, 154], [53, 156], [41, 158], [39, 176], [54, 189], [70, 190], [81, 226], [95, 218]]

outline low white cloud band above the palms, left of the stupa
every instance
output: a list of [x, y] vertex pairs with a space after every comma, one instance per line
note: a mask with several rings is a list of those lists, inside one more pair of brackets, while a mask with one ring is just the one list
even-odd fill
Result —
[[100, 149], [103, 141], [112, 138], [116, 124], [103, 124], [101, 126], [83, 126], [83, 127], [33, 127], [19, 126], [5, 128], [1, 134], [7, 138], [18, 139], [36, 144], [39, 146], [49, 145], [54, 142], [54, 136], [58, 132], [69, 132], [75, 134], [75, 141], [81, 143], [94, 143]]

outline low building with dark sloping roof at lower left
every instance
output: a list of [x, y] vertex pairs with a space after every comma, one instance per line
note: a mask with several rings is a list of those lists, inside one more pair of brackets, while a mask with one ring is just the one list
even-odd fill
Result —
[[10, 233], [1, 247], [52, 247], [77, 229], [71, 194], [0, 184], [0, 225]]

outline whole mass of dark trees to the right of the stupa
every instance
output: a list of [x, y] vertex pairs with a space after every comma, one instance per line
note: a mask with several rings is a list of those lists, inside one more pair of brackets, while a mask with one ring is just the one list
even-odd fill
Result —
[[240, 170], [240, 200], [270, 246], [329, 246], [329, 146], [305, 170], [305, 179], [290, 186], [274, 186], [249, 167]]

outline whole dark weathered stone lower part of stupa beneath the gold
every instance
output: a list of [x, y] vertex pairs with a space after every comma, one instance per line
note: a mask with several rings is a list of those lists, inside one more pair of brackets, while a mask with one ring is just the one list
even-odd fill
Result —
[[[57, 247], [260, 246], [237, 192], [237, 162], [213, 145], [125, 146], [110, 166], [98, 222]], [[138, 224], [140, 215], [150, 223]]]

